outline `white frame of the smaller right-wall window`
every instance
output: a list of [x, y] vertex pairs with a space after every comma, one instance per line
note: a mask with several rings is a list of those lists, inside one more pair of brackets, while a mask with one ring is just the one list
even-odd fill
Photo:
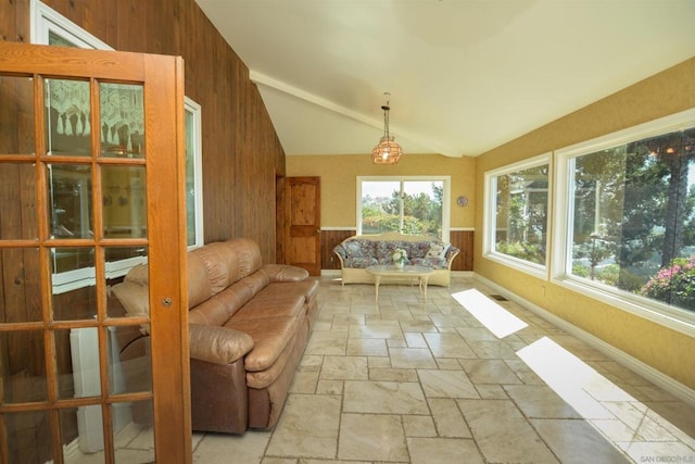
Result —
[[[496, 220], [497, 220], [497, 178], [507, 174], [539, 167], [547, 164], [547, 215], [546, 215], [546, 244], [545, 263], [538, 264], [495, 250], [496, 242]], [[527, 160], [508, 164], [484, 173], [484, 195], [483, 195], [483, 236], [482, 236], [482, 258], [495, 263], [511, 267], [525, 274], [547, 280], [549, 273], [549, 260], [552, 254], [551, 237], [553, 234], [551, 217], [553, 217], [553, 191], [554, 191], [554, 166], [552, 152], [539, 154]]]

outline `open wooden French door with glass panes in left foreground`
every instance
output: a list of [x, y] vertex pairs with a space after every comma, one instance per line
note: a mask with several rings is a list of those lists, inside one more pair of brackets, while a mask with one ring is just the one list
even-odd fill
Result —
[[0, 462], [191, 462], [182, 70], [0, 41]]

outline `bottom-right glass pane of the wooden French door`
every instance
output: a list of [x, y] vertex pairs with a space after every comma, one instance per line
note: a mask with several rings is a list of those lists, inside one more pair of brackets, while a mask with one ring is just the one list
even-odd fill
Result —
[[[117, 413], [121, 403], [114, 407], [114, 444], [116, 463], [153, 463], [154, 434], [152, 428], [152, 401], [137, 401], [129, 404], [132, 422], [124, 423]], [[121, 424], [118, 423], [121, 421]]]

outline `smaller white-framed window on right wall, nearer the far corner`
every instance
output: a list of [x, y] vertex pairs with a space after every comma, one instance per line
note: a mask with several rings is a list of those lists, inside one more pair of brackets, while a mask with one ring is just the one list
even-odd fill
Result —
[[485, 175], [485, 255], [545, 277], [549, 155]]

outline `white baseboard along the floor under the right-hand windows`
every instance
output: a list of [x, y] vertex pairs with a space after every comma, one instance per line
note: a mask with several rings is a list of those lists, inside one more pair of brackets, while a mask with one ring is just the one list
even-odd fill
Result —
[[634, 373], [641, 375], [642, 377], [646, 378], [647, 380], [649, 380], [650, 383], [653, 383], [654, 385], [662, 388], [664, 390], [666, 390], [667, 392], [669, 392], [670, 394], [672, 394], [673, 397], [678, 398], [681, 401], [686, 402], [687, 404], [695, 406], [695, 390], [688, 388], [687, 386], [681, 384], [680, 381], [667, 376], [666, 374], [664, 374], [662, 372], [652, 367], [650, 365], [637, 360], [636, 358], [631, 356], [630, 354], [626, 353], [624, 351], [614, 347], [612, 344], [599, 339], [598, 337], [582, 330], [581, 328], [574, 326], [573, 324], [565, 321], [561, 317], [556, 316], [555, 314], [544, 310], [543, 308], [525, 300], [523, 298], [519, 297], [518, 294], [507, 290], [504, 287], [501, 287], [500, 285], [495, 284], [492, 280], [489, 280], [480, 275], [475, 274], [473, 276], [477, 280], [480, 280], [481, 283], [483, 283], [484, 285], [493, 288], [496, 292], [498, 292], [500, 294], [502, 294], [503, 297], [519, 303], [520, 305], [522, 305], [523, 308], [528, 309], [529, 311], [535, 313], [536, 315], [539, 315], [540, 317], [543, 317], [544, 319], [546, 319], [547, 322], [552, 323], [553, 325], [561, 328], [563, 330], [567, 331], [568, 334], [571, 334], [572, 336], [579, 338], [580, 340], [584, 341], [585, 343], [587, 343], [589, 346], [595, 348], [596, 350], [601, 351], [602, 353], [604, 353], [605, 355], [607, 355], [608, 358], [615, 360], [616, 362], [622, 364], [623, 366], [626, 366], [627, 368], [629, 368], [630, 371], [633, 371]]

